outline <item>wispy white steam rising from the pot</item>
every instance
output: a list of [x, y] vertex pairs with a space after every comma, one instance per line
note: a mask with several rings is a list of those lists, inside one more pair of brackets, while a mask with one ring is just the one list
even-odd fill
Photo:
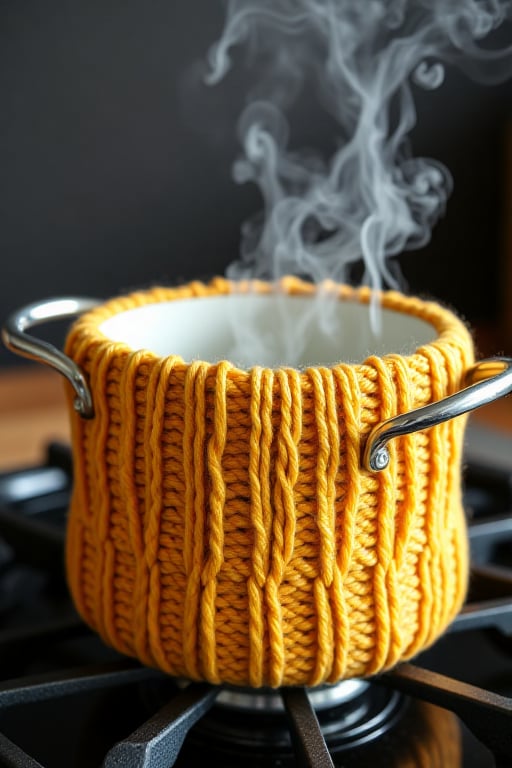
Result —
[[[228, 276], [347, 281], [362, 263], [364, 283], [397, 287], [392, 257], [427, 243], [452, 189], [441, 163], [411, 153], [411, 84], [440, 87], [445, 64], [505, 79], [512, 45], [486, 38], [511, 16], [512, 0], [230, 0], [208, 82], [242, 47], [258, 82], [233, 175], [258, 185], [263, 211], [243, 226]], [[290, 146], [285, 113], [311, 85], [338, 127], [332, 157]]]

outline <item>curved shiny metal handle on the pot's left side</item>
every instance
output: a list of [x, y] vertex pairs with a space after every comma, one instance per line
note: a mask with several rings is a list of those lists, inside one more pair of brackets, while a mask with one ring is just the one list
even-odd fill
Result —
[[77, 317], [99, 303], [96, 299], [76, 296], [35, 302], [13, 312], [2, 328], [2, 339], [8, 349], [22, 357], [45, 363], [66, 377], [76, 393], [75, 410], [86, 419], [94, 416], [94, 409], [89, 385], [78, 365], [53, 344], [31, 336], [26, 330], [49, 320]]

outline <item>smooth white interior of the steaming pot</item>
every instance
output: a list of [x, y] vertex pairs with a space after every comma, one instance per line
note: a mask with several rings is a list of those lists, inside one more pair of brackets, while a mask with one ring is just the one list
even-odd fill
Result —
[[241, 368], [363, 362], [369, 355], [412, 354], [436, 330], [416, 317], [381, 309], [372, 329], [367, 305], [325, 296], [228, 294], [148, 304], [100, 325], [112, 341], [185, 361], [229, 360]]

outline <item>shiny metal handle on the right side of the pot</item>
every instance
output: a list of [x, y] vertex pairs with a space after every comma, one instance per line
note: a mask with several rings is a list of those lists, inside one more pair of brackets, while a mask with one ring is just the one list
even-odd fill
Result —
[[370, 432], [363, 455], [365, 469], [379, 472], [388, 466], [386, 444], [394, 437], [429, 429], [512, 392], [512, 358], [482, 360], [466, 372], [464, 383], [468, 386], [454, 395], [395, 416], [375, 427]]

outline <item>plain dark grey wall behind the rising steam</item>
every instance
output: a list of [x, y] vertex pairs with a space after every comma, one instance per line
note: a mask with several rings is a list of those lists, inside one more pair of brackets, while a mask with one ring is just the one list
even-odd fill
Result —
[[[217, 0], [0, 4], [0, 316], [58, 294], [107, 297], [223, 272], [259, 206], [231, 181], [248, 80], [198, 85], [218, 36]], [[508, 32], [509, 38], [512, 35]], [[415, 153], [455, 190], [428, 247], [403, 257], [410, 290], [470, 320], [499, 311], [503, 136], [512, 81], [483, 88], [449, 71], [417, 92]], [[297, 145], [328, 145], [316, 105]], [[0, 352], [0, 365], [15, 362]]]

